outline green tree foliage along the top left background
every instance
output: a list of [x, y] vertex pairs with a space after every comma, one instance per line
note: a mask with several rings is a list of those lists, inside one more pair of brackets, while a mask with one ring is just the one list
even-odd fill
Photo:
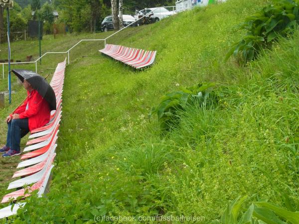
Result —
[[[119, 14], [120, 6], [123, 9], [123, 14], [133, 15], [135, 9], [175, 4], [175, 0], [121, 1], [123, 1], [123, 4], [120, 5], [119, 0], [115, 0], [116, 15]], [[71, 32], [95, 32], [101, 30], [103, 19], [112, 14], [111, 0], [15, 0], [14, 8], [10, 10], [12, 29], [15, 32], [24, 31], [27, 29], [27, 21], [29, 19], [37, 19], [38, 15], [40, 15], [41, 20], [44, 22], [44, 30], [46, 33], [50, 33], [54, 22], [53, 10], [57, 10], [59, 13], [57, 23], [65, 23]], [[32, 11], [35, 11], [33, 17], [31, 15]], [[0, 13], [0, 36], [6, 33], [5, 18], [5, 12], [3, 15]], [[115, 20], [117, 22], [115, 27], [117, 28], [122, 23], [119, 21], [118, 16], [115, 17]], [[1, 26], [1, 21], [3, 21], [3, 27]]]

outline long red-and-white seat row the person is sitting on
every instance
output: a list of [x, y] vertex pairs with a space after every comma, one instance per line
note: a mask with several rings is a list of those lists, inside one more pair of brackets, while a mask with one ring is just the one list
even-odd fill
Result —
[[[23, 152], [27, 152], [21, 156], [22, 162], [17, 168], [23, 168], [16, 171], [12, 178], [16, 179], [8, 185], [8, 190], [21, 188], [5, 195], [1, 203], [14, 201], [18, 197], [26, 198], [30, 196], [32, 191], [38, 190], [38, 196], [41, 197], [48, 184], [51, 170], [53, 168], [53, 160], [56, 156], [56, 140], [59, 132], [59, 122], [62, 113], [62, 92], [64, 82], [64, 71], [66, 60], [57, 65], [50, 86], [56, 95], [56, 110], [51, 112], [50, 121], [43, 127], [30, 131], [29, 141]], [[31, 185], [24, 189], [24, 185]], [[25, 194], [26, 192], [26, 194]], [[0, 219], [16, 214], [19, 207], [24, 206], [24, 202], [18, 203], [11, 211], [11, 205], [0, 210]]]

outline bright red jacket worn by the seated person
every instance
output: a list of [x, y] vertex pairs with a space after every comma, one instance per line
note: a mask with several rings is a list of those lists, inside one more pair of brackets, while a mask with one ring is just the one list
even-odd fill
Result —
[[[50, 106], [48, 102], [43, 99], [36, 90], [31, 93], [27, 91], [27, 99], [19, 106], [14, 113], [18, 113], [20, 119], [28, 118], [29, 130], [42, 127], [50, 121]], [[26, 106], [28, 103], [28, 110]], [[10, 114], [12, 116], [12, 114]]]

